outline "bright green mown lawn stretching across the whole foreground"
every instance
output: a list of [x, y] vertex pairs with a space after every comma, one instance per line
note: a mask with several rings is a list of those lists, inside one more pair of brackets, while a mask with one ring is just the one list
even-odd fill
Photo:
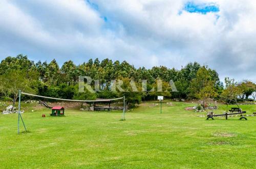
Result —
[[160, 114], [146, 102], [126, 121], [121, 111], [30, 111], [22, 115], [30, 133], [20, 135], [17, 115], [0, 115], [0, 168], [256, 168], [256, 117], [206, 121], [184, 109], [192, 105], [163, 103]]

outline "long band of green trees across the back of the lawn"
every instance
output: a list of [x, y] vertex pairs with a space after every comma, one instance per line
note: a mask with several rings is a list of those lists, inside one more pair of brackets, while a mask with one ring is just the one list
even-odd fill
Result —
[[[101, 92], [78, 92], [78, 77], [90, 76], [92, 79], [104, 79], [100, 83]], [[111, 92], [111, 80], [121, 79], [126, 92]], [[157, 80], [161, 79], [164, 92], [131, 92], [129, 85], [133, 80], [138, 87], [142, 80], [147, 80], [147, 89], [150, 91], [157, 87]], [[169, 81], [173, 80], [178, 92], [172, 92]], [[96, 99], [115, 98], [125, 95], [127, 104], [131, 106], [142, 100], [154, 100], [162, 95], [165, 98], [178, 99], [222, 99], [231, 97], [230, 86], [237, 88], [236, 98], [245, 99], [249, 96], [255, 100], [255, 84], [249, 80], [236, 82], [226, 78], [225, 88], [219, 79], [216, 70], [199, 63], [188, 63], [180, 70], [165, 66], [135, 68], [126, 61], [112, 61], [104, 59], [90, 59], [88, 62], [75, 65], [67, 61], [59, 67], [56, 60], [50, 63], [38, 61], [35, 63], [26, 55], [7, 57], [0, 63], [0, 96], [2, 99], [11, 98], [15, 103], [17, 91], [22, 90], [42, 96], [63, 99]], [[233, 89], [233, 88], [232, 88]], [[228, 94], [227, 94], [228, 93]], [[233, 96], [232, 96], [233, 98]]]

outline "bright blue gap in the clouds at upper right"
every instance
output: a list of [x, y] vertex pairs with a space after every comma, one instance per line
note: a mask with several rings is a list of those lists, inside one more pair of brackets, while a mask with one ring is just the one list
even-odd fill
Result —
[[215, 3], [195, 4], [194, 2], [186, 3], [184, 6], [184, 10], [190, 13], [201, 13], [201, 14], [220, 11], [219, 6]]

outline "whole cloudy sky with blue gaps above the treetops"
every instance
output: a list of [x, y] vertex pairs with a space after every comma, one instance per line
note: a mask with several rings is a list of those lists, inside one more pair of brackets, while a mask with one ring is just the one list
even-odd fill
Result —
[[1, 0], [0, 60], [19, 53], [60, 65], [110, 58], [180, 69], [196, 61], [221, 79], [256, 81], [256, 3]]

